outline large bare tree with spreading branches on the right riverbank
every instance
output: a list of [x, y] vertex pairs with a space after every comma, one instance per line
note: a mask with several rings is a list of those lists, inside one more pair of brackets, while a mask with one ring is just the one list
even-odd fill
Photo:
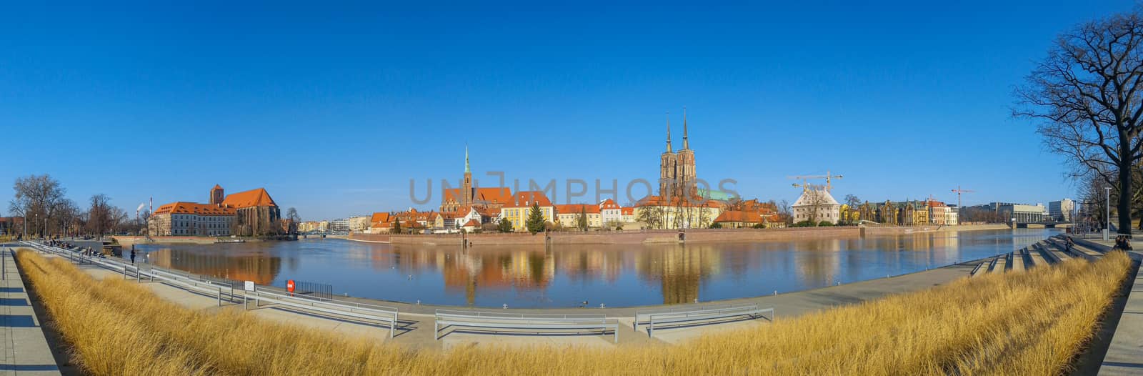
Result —
[[[1132, 194], [1141, 158], [1143, 17], [1118, 14], [1060, 35], [1016, 89], [1013, 114], [1038, 121], [1045, 146], [1070, 159], [1073, 177], [1095, 175]], [[1130, 201], [1119, 200], [1119, 231], [1130, 233]]]

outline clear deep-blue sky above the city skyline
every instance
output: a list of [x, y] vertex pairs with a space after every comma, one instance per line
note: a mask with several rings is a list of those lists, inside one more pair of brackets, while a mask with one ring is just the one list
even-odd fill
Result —
[[839, 199], [1047, 203], [1076, 189], [1012, 89], [1058, 33], [1133, 6], [13, 2], [0, 182], [128, 210], [264, 186], [334, 218], [435, 207], [409, 181], [456, 182], [467, 144], [478, 178], [555, 179], [562, 202], [569, 178], [654, 182], [686, 106], [698, 176], [746, 198], [832, 170]]

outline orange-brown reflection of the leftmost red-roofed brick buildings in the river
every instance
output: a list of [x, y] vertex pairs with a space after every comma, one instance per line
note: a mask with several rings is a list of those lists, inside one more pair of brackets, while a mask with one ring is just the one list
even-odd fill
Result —
[[147, 262], [194, 274], [232, 281], [254, 281], [258, 285], [271, 285], [274, 278], [278, 278], [282, 264], [281, 257], [266, 255], [199, 254], [169, 248], [149, 253]]

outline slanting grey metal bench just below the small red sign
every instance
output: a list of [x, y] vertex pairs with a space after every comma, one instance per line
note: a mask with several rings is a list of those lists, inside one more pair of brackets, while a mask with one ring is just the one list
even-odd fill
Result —
[[261, 305], [262, 302], [265, 301], [272, 304], [290, 306], [305, 311], [314, 311], [314, 312], [350, 317], [362, 320], [381, 321], [383, 323], [389, 325], [390, 338], [392, 338], [397, 333], [398, 311], [395, 307], [363, 304], [363, 303], [352, 303], [352, 302], [335, 303], [334, 301], [328, 301], [328, 299], [318, 299], [318, 298], [303, 297], [296, 295], [289, 296], [287, 294], [266, 291], [255, 288], [254, 291], [246, 291], [243, 296], [246, 299], [253, 299], [255, 306]]

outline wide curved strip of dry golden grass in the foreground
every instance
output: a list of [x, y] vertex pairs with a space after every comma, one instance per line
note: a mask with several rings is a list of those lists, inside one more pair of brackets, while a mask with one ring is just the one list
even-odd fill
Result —
[[1069, 370], [1130, 261], [966, 278], [678, 346], [447, 352], [191, 311], [34, 253], [19, 263], [95, 375], [1050, 375]]

